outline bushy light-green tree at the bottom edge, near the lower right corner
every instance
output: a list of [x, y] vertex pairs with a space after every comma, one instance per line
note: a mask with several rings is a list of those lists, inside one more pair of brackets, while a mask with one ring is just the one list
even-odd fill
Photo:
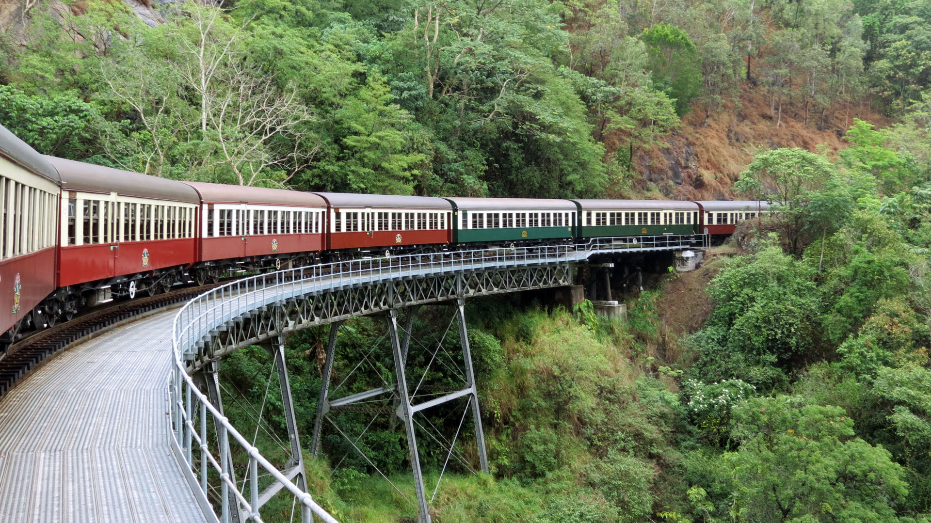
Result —
[[854, 437], [839, 407], [792, 396], [752, 398], [733, 409], [740, 448], [725, 453], [735, 521], [897, 521], [908, 493], [902, 467]]

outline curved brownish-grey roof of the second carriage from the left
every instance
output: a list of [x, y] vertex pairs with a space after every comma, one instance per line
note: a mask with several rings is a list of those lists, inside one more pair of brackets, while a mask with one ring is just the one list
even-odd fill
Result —
[[88, 193], [122, 194], [173, 202], [200, 203], [194, 189], [180, 181], [45, 156], [61, 175], [61, 188]]

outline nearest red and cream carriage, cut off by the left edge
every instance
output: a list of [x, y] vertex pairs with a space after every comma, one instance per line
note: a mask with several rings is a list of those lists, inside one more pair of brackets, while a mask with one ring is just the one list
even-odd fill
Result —
[[54, 323], [39, 304], [55, 290], [61, 179], [42, 154], [0, 126], [0, 345]]

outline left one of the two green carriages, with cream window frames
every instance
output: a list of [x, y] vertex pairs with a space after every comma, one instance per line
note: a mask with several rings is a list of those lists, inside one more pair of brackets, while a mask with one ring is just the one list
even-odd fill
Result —
[[453, 244], [528, 244], [571, 240], [578, 207], [569, 200], [446, 198], [452, 203]]

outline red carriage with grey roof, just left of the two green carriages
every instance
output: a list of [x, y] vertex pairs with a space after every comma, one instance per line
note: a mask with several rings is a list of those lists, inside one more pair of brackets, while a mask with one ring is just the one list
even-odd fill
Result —
[[[327, 248], [417, 251], [452, 241], [452, 205], [431, 196], [314, 193], [329, 204]], [[337, 253], [338, 254], [338, 253]]]

